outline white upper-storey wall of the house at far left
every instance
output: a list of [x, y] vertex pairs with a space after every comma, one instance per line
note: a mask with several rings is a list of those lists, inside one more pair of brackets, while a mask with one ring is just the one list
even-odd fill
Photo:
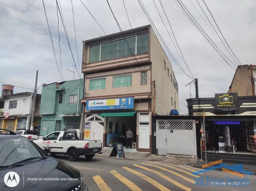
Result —
[[[27, 115], [30, 114], [30, 107], [32, 107], [32, 95], [13, 96], [6, 98], [4, 105], [4, 115]], [[17, 100], [17, 108], [9, 109], [9, 102]]]

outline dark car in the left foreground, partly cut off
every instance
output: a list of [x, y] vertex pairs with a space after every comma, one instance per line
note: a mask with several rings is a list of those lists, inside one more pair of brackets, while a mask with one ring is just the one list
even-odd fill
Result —
[[[81, 172], [48, 155], [29, 139], [0, 129], [1, 191], [88, 191]], [[20, 141], [22, 140], [22, 141]], [[20, 143], [26, 147], [20, 147]]]

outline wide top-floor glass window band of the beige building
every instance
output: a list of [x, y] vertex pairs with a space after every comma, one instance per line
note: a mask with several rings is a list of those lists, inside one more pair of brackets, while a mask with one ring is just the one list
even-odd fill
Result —
[[[137, 40], [137, 43], [136, 43]], [[89, 62], [105, 61], [149, 52], [149, 34], [101, 43], [90, 47]]]

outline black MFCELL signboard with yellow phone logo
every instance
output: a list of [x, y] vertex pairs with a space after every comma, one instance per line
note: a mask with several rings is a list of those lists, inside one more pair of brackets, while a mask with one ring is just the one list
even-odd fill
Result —
[[216, 93], [215, 94], [216, 112], [237, 112], [239, 102], [237, 93]]

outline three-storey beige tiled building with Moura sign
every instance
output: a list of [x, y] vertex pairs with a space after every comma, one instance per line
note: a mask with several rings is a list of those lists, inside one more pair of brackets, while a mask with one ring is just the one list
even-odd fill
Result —
[[[169, 115], [179, 106], [177, 80], [151, 26], [83, 41], [82, 61], [83, 126], [90, 128], [85, 139], [94, 136], [110, 146], [131, 128], [133, 147], [151, 152], [151, 115]], [[119, 100], [129, 100], [128, 109], [118, 107]]]

